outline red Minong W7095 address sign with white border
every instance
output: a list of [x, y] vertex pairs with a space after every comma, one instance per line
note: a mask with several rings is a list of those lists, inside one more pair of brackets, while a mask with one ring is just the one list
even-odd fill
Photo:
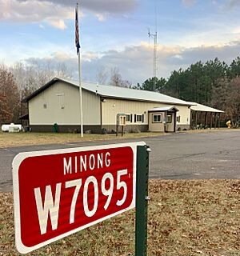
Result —
[[14, 158], [16, 246], [28, 253], [135, 206], [143, 142], [20, 153]]

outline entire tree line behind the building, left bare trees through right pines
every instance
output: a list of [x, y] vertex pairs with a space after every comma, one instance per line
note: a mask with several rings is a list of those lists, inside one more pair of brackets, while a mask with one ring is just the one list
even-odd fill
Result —
[[[0, 124], [19, 122], [18, 118], [27, 113], [22, 99], [56, 76], [73, 78], [73, 72], [64, 63], [56, 66], [50, 61], [45, 66], [38, 62], [28, 65], [18, 62], [11, 67], [0, 65]], [[218, 58], [196, 62], [185, 70], [174, 70], [168, 79], [149, 78], [137, 86], [122, 79], [117, 68], [110, 70], [110, 76], [100, 68], [96, 80], [101, 84], [155, 90], [188, 102], [212, 106], [225, 111], [223, 118], [230, 118], [234, 126], [240, 123], [240, 57], [230, 65]]]

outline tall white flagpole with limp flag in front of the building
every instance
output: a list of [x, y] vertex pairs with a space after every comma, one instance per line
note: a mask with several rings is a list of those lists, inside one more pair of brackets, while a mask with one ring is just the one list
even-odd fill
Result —
[[[76, 7], [76, 19], [78, 20], [78, 3]], [[76, 27], [76, 30], [79, 28]], [[78, 33], [78, 31], [76, 31]], [[83, 138], [83, 118], [82, 118], [82, 70], [81, 70], [81, 48], [79, 45], [79, 33], [78, 33], [78, 81], [79, 81], [79, 98], [80, 98], [80, 130], [81, 130], [81, 137]]]

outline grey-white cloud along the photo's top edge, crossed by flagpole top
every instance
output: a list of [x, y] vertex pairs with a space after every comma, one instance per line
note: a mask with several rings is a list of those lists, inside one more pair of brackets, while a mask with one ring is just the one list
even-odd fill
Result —
[[[124, 14], [134, 10], [137, 0], [82, 0], [79, 12], [90, 10], [100, 22], [109, 14]], [[66, 29], [65, 20], [74, 19], [76, 0], [0, 0], [0, 21], [47, 22]]]

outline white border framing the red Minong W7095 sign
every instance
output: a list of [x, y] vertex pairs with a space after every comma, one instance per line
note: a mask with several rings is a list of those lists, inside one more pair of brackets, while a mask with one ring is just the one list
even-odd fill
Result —
[[[32, 152], [22, 152], [15, 156], [12, 162], [12, 172], [13, 172], [13, 191], [14, 191], [14, 230], [15, 230], [15, 244], [18, 251], [21, 254], [27, 254], [32, 250], [37, 250], [42, 246], [46, 246], [51, 242], [58, 241], [61, 238], [65, 238], [70, 234], [74, 234], [80, 230], [84, 230], [89, 226], [94, 226], [98, 222], [102, 222], [108, 218], [114, 217], [118, 214], [122, 214], [126, 210], [133, 209], [136, 203], [136, 172], [137, 172], [137, 146], [145, 146], [146, 142], [126, 142], [126, 143], [118, 143], [118, 144], [104, 144], [100, 146], [84, 146], [84, 147], [75, 147], [75, 148], [67, 148], [67, 149], [58, 149], [58, 150], [42, 150], [42, 151], [32, 151]], [[133, 170], [133, 201], [131, 202], [130, 206], [126, 209], [120, 210], [114, 214], [110, 214], [106, 217], [100, 218], [94, 222], [90, 222], [85, 226], [80, 226], [74, 230], [70, 230], [65, 234], [60, 234], [55, 238], [51, 238], [45, 242], [41, 242], [36, 246], [25, 246], [22, 243], [21, 239], [21, 218], [20, 218], [20, 205], [19, 205], [19, 180], [18, 180], [18, 169], [21, 165], [22, 161], [26, 158], [42, 156], [42, 155], [50, 155], [50, 154], [66, 154], [66, 153], [74, 153], [74, 152], [83, 152], [83, 151], [90, 151], [90, 150], [105, 150], [105, 149], [112, 149], [118, 147], [125, 147], [130, 146], [134, 153], [134, 170]]]

